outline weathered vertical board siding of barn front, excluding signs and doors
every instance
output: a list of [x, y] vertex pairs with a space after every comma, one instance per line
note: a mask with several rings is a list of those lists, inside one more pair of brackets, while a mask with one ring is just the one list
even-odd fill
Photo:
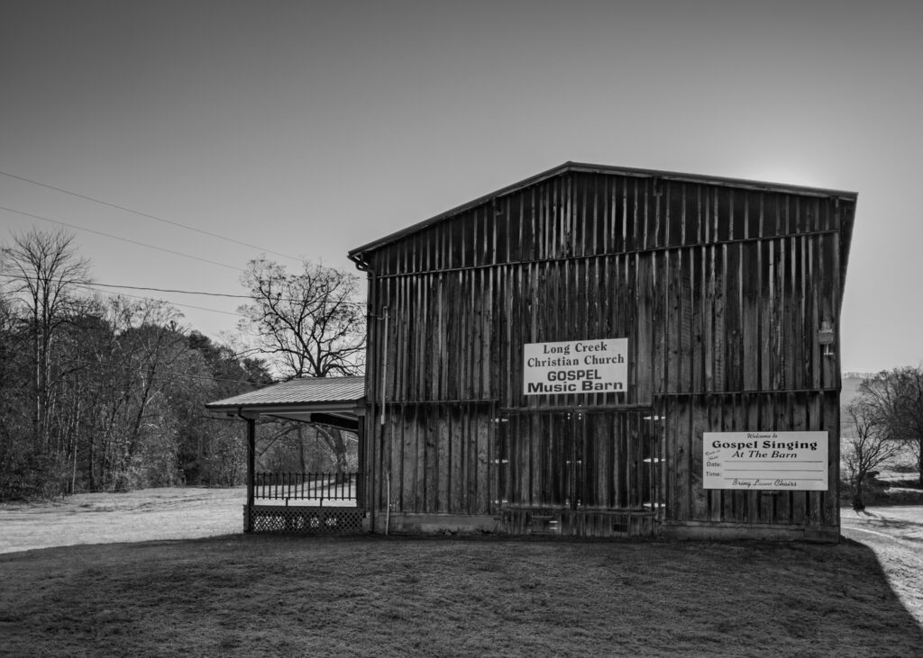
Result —
[[[838, 523], [822, 492], [703, 491], [701, 432], [827, 430], [835, 490], [839, 359], [817, 332], [839, 319], [853, 212], [833, 196], [571, 171], [365, 253], [368, 502], [497, 513], [500, 420], [582, 406], [665, 417], [652, 431], [667, 521]], [[524, 343], [614, 337], [629, 338], [627, 392], [522, 394]]]

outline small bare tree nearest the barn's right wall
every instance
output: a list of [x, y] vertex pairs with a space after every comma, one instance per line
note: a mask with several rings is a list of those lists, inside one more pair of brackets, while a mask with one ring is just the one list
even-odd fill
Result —
[[900, 442], [888, 434], [869, 400], [857, 397], [846, 406], [855, 436], [844, 437], [843, 458], [853, 488], [853, 509], [865, 510], [864, 487], [869, 474], [892, 461], [901, 452]]

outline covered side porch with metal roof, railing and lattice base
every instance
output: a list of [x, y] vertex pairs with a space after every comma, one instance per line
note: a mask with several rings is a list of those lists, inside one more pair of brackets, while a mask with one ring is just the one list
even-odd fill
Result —
[[[362, 417], [365, 377], [296, 379], [212, 402], [212, 412], [246, 421], [245, 533], [345, 533], [365, 529]], [[352, 432], [358, 467], [328, 472], [259, 471], [260, 418], [281, 418]]]

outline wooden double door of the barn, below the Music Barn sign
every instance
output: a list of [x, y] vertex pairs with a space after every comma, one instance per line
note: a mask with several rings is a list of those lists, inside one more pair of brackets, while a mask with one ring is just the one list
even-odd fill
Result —
[[663, 441], [640, 411], [535, 412], [501, 418], [500, 507], [662, 509]]

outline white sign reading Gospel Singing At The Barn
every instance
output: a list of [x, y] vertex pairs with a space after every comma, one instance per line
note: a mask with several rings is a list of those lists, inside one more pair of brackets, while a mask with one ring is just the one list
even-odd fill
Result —
[[827, 432], [704, 432], [706, 489], [827, 490]]

